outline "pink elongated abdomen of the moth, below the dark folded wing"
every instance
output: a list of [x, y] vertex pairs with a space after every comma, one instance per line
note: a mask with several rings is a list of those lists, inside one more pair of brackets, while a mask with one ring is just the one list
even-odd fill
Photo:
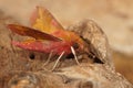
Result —
[[65, 55], [71, 53], [70, 45], [64, 42], [39, 42], [33, 41], [30, 43], [23, 43], [23, 42], [14, 42], [12, 41], [11, 44], [29, 51], [40, 52], [49, 54], [53, 52], [54, 55], [60, 55], [62, 52], [64, 52]]

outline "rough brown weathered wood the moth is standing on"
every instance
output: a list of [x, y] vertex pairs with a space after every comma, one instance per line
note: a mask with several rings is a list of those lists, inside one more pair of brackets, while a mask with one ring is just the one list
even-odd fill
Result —
[[7, 21], [0, 21], [0, 88], [133, 88], [115, 72], [106, 36], [95, 22], [85, 20], [69, 29], [89, 41], [86, 48], [91, 48], [104, 64], [95, 61], [90, 63], [93, 57], [83, 54], [78, 56], [80, 66], [74, 59], [63, 57], [55, 70], [50, 72], [58, 56], [43, 66], [49, 55], [10, 45], [17, 35], [4, 28]]

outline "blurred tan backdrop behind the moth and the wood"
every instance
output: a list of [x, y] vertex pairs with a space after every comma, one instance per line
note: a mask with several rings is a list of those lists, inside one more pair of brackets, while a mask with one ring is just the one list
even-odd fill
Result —
[[28, 24], [35, 6], [49, 9], [64, 28], [95, 21], [108, 35], [116, 72], [133, 84], [133, 0], [0, 0], [0, 12]]

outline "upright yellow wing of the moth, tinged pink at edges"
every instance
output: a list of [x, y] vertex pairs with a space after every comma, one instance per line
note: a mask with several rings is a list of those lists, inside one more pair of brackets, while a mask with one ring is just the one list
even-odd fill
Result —
[[[37, 11], [33, 13], [34, 21], [32, 26], [42, 32], [52, 34], [55, 31], [63, 30], [61, 24], [53, 18], [53, 15], [44, 8], [37, 7]], [[32, 20], [32, 19], [31, 19]]]

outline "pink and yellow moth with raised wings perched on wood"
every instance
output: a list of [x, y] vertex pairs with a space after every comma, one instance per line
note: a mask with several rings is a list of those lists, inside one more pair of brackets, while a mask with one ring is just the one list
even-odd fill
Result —
[[37, 7], [30, 18], [30, 28], [20, 24], [8, 24], [8, 28], [31, 40], [12, 41], [12, 44], [30, 51], [54, 55], [69, 55], [83, 51], [84, 41], [74, 32], [66, 31], [43, 7]]

